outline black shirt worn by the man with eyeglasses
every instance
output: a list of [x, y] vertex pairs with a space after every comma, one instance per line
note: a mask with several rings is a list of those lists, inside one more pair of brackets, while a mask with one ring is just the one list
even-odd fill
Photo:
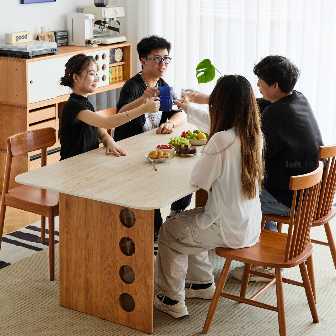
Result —
[[[168, 84], [162, 78], [159, 78], [157, 87], [159, 88], [160, 86], [168, 86]], [[144, 83], [140, 73], [137, 73], [134, 77], [126, 81], [120, 91], [120, 97], [117, 103], [117, 113], [126, 104], [129, 104], [130, 102], [140, 98], [146, 88], [147, 86]], [[178, 111], [162, 112], [160, 125], [169, 120], [169, 118], [171, 118], [171, 116], [177, 112]], [[145, 115], [143, 114], [135, 119], [132, 119], [126, 124], [116, 127], [113, 136], [114, 140], [119, 141], [129, 138], [130, 136], [143, 133], [143, 125], [145, 121]]]

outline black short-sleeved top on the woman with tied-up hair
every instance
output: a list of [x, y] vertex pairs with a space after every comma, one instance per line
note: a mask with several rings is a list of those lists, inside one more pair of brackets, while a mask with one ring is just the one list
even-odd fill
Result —
[[77, 114], [82, 110], [94, 111], [89, 98], [75, 93], [70, 94], [64, 104], [60, 121], [61, 158], [64, 160], [99, 147], [98, 128], [80, 122], [74, 124]]

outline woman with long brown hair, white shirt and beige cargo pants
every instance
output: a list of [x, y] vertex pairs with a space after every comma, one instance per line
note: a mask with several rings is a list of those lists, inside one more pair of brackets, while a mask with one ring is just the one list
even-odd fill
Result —
[[[187, 99], [178, 104], [189, 106]], [[154, 304], [174, 318], [188, 315], [184, 298], [212, 298], [208, 250], [256, 244], [261, 223], [264, 141], [250, 83], [240, 75], [225, 76], [210, 95], [209, 113], [190, 107], [190, 115], [197, 127], [210, 129], [191, 174], [191, 183], [209, 197], [205, 207], [169, 218], [160, 229]]]

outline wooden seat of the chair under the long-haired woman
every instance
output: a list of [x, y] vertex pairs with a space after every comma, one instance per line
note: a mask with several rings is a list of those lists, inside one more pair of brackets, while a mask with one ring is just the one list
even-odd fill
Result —
[[261, 229], [259, 242], [257, 244], [241, 249], [216, 247], [216, 254], [247, 264], [274, 268], [290, 268], [304, 262], [313, 251], [311, 243], [308, 242], [299, 257], [284, 262], [286, 244], [287, 234]]

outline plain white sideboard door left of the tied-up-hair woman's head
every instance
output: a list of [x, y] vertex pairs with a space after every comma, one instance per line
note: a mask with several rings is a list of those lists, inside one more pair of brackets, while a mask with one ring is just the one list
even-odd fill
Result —
[[49, 58], [28, 63], [28, 102], [55, 98], [71, 93], [71, 89], [59, 85], [64, 76], [65, 64], [71, 56]]

